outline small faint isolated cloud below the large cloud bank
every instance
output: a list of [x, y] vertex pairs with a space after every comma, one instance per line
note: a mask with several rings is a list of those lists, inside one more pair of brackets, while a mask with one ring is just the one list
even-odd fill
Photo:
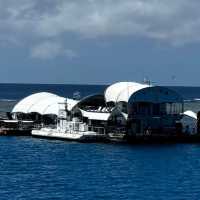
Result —
[[34, 46], [31, 49], [31, 57], [39, 59], [53, 59], [58, 56], [65, 56], [69, 59], [73, 59], [77, 54], [70, 50], [65, 49], [59, 42], [45, 41]]

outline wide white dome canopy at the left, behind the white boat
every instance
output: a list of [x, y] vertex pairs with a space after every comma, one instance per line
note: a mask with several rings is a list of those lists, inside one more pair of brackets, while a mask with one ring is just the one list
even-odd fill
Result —
[[60, 97], [48, 92], [40, 92], [22, 99], [13, 108], [12, 113], [36, 112], [41, 115], [58, 115], [59, 110], [65, 109], [66, 103], [67, 109], [71, 110], [78, 103], [78, 101], [73, 99], [66, 99], [64, 97]]

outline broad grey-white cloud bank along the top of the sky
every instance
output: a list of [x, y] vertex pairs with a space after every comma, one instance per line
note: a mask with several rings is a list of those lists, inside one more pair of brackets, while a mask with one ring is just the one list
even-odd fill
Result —
[[128, 35], [184, 44], [200, 41], [199, 7], [199, 0], [0, 0], [0, 32], [39, 39]]

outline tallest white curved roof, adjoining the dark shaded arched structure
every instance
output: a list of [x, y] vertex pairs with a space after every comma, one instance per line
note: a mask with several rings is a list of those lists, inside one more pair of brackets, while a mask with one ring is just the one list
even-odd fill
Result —
[[128, 102], [133, 93], [146, 87], [150, 86], [136, 82], [118, 82], [106, 89], [105, 100], [106, 102]]

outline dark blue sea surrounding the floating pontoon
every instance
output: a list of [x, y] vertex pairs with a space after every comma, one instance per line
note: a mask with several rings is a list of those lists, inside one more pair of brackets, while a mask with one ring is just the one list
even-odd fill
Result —
[[[106, 86], [0, 84], [0, 109], [49, 91], [72, 97]], [[200, 110], [200, 87], [174, 87]], [[84, 144], [0, 137], [0, 200], [199, 200], [200, 144]]]

